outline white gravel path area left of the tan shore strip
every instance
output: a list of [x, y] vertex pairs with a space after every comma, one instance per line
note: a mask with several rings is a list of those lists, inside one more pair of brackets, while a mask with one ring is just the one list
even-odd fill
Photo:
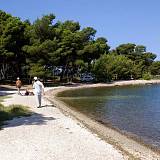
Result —
[[8, 121], [0, 130], [1, 160], [126, 159], [121, 151], [44, 99], [44, 107], [36, 108], [34, 96], [14, 93], [3, 104], [26, 105], [34, 113]]

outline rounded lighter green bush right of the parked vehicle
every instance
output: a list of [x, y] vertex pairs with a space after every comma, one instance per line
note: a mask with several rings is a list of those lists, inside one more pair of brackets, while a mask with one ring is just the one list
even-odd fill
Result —
[[123, 55], [108, 54], [95, 62], [93, 71], [98, 81], [130, 79], [132, 65], [132, 61]]

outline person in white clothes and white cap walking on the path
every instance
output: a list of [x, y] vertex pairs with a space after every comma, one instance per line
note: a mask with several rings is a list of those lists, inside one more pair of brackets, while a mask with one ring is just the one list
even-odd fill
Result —
[[44, 85], [42, 82], [38, 80], [37, 77], [34, 77], [34, 94], [36, 98], [37, 108], [41, 107], [41, 101], [42, 101], [42, 94], [44, 94]]

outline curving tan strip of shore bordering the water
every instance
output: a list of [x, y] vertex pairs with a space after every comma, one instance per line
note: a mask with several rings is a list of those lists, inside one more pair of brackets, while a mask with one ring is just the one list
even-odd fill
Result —
[[51, 101], [57, 108], [59, 108], [65, 115], [71, 116], [71, 118], [78, 120], [84, 126], [89, 128], [93, 133], [96, 133], [101, 139], [107, 143], [115, 146], [118, 150], [121, 150], [125, 155], [132, 159], [160, 159], [160, 150], [151, 147], [134, 138], [131, 135], [122, 133], [119, 130], [111, 126], [105, 126], [104, 124], [91, 119], [90, 117], [71, 109], [64, 102], [62, 102], [57, 94], [65, 90], [90, 88], [90, 87], [114, 87], [114, 86], [126, 86], [126, 85], [146, 85], [146, 84], [160, 84], [160, 80], [131, 80], [131, 81], [119, 81], [110, 84], [98, 83], [98, 84], [80, 84], [71, 85], [62, 88], [55, 88], [47, 92], [47, 99]]

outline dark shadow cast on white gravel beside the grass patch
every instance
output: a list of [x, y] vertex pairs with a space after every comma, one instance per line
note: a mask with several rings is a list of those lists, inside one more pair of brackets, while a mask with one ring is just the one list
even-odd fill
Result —
[[28, 117], [14, 118], [13, 120], [4, 122], [5, 125], [1, 129], [9, 127], [17, 127], [22, 125], [46, 125], [48, 121], [56, 120], [54, 117], [46, 117], [42, 114], [33, 113]]

